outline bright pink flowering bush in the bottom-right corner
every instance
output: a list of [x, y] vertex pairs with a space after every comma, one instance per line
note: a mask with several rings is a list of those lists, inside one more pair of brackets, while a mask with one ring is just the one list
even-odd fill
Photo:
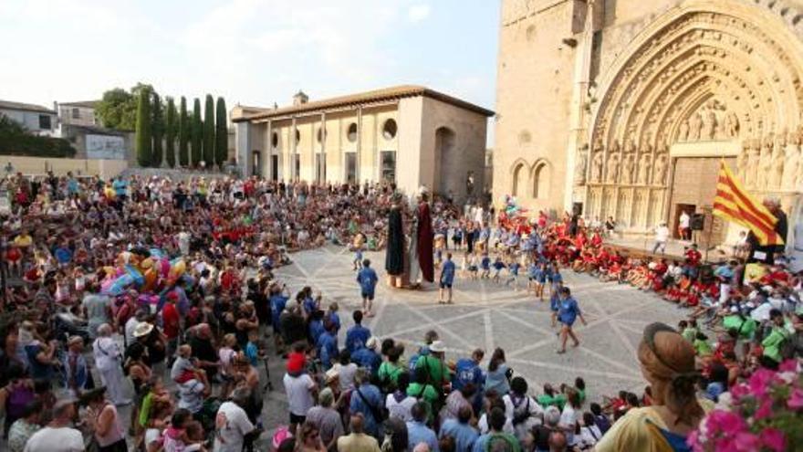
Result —
[[695, 452], [803, 450], [803, 374], [798, 362], [759, 369], [720, 397], [689, 436]]

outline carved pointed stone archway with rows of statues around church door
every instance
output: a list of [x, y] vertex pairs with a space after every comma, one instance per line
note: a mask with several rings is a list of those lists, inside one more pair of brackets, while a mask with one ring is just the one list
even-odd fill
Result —
[[651, 230], [669, 214], [673, 158], [696, 153], [736, 157], [754, 192], [797, 204], [803, 46], [779, 16], [685, 2], [646, 26], [598, 86], [579, 178], [588, 215]]

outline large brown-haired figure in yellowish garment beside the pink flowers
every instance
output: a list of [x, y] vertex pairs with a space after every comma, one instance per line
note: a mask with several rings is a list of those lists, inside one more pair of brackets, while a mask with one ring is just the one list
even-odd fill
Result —
[[700, 375], [694, 368], [694, 347], [672, 327], [652, 323], [644, 329], [638, 358], [653, 405], [631, 408], [602, 436], [596, 450], [690, 451], [686, 436], [704, 416], [696, 397]]

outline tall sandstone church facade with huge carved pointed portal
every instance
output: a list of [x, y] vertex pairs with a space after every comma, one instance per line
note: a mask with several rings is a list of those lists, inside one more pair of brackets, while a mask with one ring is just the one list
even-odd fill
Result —
[[724, 159], [803, 223], [801, 40], [799, 0], [503, 0], [495, 195], [674, 231]]

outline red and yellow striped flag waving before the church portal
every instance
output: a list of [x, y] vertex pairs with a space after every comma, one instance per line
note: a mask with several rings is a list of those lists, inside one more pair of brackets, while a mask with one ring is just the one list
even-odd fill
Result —
[[719, 164], [713, 214], [750, 229], [762, 246], [783, 245], [783, 237], [778, 236], [775, 231], [777, 223], [775, 215], [747, 193], [731, 173], [725, 160]]

